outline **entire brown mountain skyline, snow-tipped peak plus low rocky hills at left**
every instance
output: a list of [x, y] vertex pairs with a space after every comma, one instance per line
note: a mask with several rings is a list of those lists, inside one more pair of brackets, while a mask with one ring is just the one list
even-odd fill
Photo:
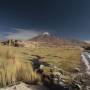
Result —
[[29, 40], [7, 40], [2, 41], [1, 43], [4, 45], [9, 45], [9, 42], [12, 46], [23, 46], [23, 47], [40, 47], [40, 46], [48, 46], [48, 47], [90, 47], [90, 43], [85, 41], [71, 39], [71, 38], [62, 38], [54, 36], [48, 32], [44, 32], [32, 39]]

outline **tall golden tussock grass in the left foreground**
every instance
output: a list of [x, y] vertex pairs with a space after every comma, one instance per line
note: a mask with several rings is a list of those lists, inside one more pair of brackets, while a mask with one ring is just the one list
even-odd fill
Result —
[[[0, 46], [4, 49], [4, 47]], [[40, 80], [39, 75], [33, 71], [30, 63], [20, 60], [19, 54], [13, 47], [5, 47], [0, 51], [0, 86], [15, 84], [18, 81], [36, 83]], [[3, 56], [4, 55], [4, 56]]]

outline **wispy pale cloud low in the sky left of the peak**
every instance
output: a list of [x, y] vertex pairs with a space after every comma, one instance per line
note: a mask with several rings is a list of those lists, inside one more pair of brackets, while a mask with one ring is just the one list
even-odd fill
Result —
[[21, 28], [12, 28], [12, 30], [14, 30], [14, 32], [9, 32], [5, 38], [27, 40], [40, 34], [39, 31], [35, 30], [27, 30]]

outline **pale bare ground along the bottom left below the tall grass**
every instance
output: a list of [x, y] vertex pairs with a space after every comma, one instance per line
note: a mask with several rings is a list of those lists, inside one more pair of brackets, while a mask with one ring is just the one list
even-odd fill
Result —
[[20, 83], [11, 87], [1, 88], [0, 90], [48, 90], [44, 86], [40, 85], [27, 85], [25, 83]]

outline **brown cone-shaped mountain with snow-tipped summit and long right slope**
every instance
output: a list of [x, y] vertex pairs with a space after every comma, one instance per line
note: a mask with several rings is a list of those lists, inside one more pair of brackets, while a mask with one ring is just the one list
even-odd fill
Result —
[[68, 39], [68, 38], [61, 38], [61, 37], [56, 37], [48, 32], [44, 32], [32, 39], [29, 39], [28, 41], [34, 41], [34, 42], [39, 42], [41, 45], [46, 45], [46, 46], [88, 46], [89, 44], [81, 41], [81, 40], [76, 40], [76, 39]]

